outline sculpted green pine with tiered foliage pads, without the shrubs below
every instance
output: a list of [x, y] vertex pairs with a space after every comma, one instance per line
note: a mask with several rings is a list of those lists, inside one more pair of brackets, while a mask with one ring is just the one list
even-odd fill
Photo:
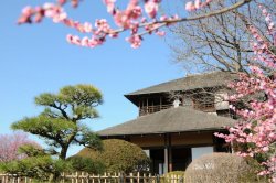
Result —
[[44, 93], [35, 97], [35, 104], [45, 107], [44, 111], [11, 127], [44, 139], [50, 146], [49, 154], [59, 154], [65, 160], [71, 144], [102, 148], [97, 134], [81, 123], [98, 117], [95, 107], [102, 103], [100, 92], [92, 85], [65, 86], [57, 94]]

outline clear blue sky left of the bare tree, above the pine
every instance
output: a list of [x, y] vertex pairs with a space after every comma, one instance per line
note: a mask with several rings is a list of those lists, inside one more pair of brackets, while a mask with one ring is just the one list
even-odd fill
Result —
[[[100, 47], [85, 49], [67, 44], [65, 36], [73, 31], [50, 20], [35, 25], [15, 24], [24, 6], [43, 2], [1, 2], [0, 133], [11, 133], [12, 122], [42, 110], [33, 103], [36, 95], [75, 84], [93, 84], [103, 92], [100, 118], [89, 121], [92, 129], [100, 130], [137, 117], [137, 108], [124, 94], [184, 75], [170, 62], [164, 40], [157, 36], [146, 36], [138, 50], [131, 49], [124, 36]], [[100, 0], [86, 0], [68, 14], [82, 21], [106, 15]], [[73, 147], [70, 154], [79, 149]]]

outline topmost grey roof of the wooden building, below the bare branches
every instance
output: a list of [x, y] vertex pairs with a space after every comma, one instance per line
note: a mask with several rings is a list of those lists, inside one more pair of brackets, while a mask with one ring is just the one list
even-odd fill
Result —
[[126, 94], [127, 98], [135, 95], [167, 93], [171, 90], [190, 90], [226, 85], [230, 80], [237, 78], [237, 75], [230, 72], [213, 72], [198, 75], [190, 75], [183, 78], [170, 80], [159, 85], [150, 86], [134, 93]]

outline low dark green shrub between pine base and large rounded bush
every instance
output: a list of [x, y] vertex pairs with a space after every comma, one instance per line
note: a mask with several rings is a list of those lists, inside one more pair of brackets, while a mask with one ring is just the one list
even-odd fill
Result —
[[105, 165], [91, 158], [85, 157], [71, 157], [66, 159], [72, 164], [73, 172], [87, 172], [94, 174], [103, 174], [105, 172]]

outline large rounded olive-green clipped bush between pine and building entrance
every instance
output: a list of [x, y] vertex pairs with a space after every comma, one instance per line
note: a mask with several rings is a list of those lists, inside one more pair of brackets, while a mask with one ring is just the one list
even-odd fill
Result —
[[106, 172], [147, 171], [150, 162], [141, 148], [117, 139], [103, 140], [103, 151], [85, 148], [76, 155], [103, 162]]

